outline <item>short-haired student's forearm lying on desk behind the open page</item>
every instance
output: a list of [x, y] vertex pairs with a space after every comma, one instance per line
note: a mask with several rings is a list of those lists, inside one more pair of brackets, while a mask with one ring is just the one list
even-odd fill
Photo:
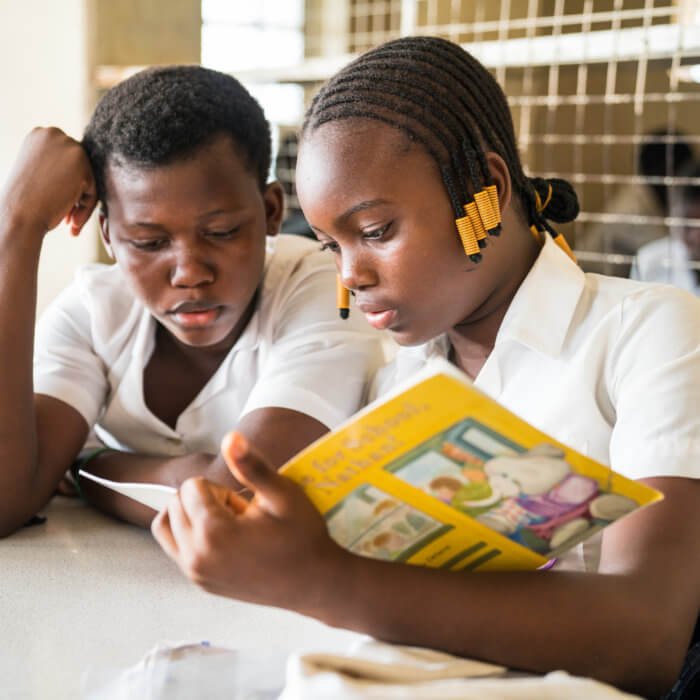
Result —
[[[241, 485], [231, 476], [219, 456], [190, 454], [183, 457], [149, 457], [109, 450], [101, 452], [86, 465], [86, 470], [114, 481], [164, 484], [179, 488], [192, 476], [240, 490]], [[85, 499], [100, 510], [142, 527], [149, 527], [155, 511], [116, 491], [99, 486], [89, 479], [80, 480]]]

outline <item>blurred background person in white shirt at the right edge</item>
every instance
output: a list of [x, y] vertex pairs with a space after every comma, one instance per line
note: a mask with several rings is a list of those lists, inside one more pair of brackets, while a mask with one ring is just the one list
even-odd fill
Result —
[[642, 246], [632, 265], [631, 277], [665, 282], [700, 296], [700, 162], [682, 171], [688, 181], [671, 194], [671, 217], [682, 219], [671, 233]]

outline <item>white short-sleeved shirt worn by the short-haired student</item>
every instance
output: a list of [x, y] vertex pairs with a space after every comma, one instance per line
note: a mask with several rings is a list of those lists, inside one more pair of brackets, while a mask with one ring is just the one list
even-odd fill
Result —
[[155, 319], [118, 266], [87, 266], [39, 321], [34, 390], [75, 408], [104, 445], [148, 455], [215, 454], [242, 416], [267, 406], [335, 426], [358, 409], [380, 360], [362, 314], [339, 318], [335, 276], [318, 244], [268, 239], [257, 309], [173, 429], [144, 402]]

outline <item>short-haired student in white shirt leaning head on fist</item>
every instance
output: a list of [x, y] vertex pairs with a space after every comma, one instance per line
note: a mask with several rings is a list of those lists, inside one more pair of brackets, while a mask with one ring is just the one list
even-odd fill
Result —
[[[0, 198], [0, 535], [72, 464], [236, 487], [218, 456], [232, 426], [278, 467], [358, 408], [377, 334], [359, 314], [339, 318], [317, 243], [276, 236], [283, 193], [269, 166], [260, 106], [196, 66], [117, 85], [82, 144], [55, 128], [27, 136]], [[81, 269], [34, 340], [44, 235], [63, 218], [77, 234], [98, 201], [116, 264]], [[118, 517], [154, 515], [80, 486]]]

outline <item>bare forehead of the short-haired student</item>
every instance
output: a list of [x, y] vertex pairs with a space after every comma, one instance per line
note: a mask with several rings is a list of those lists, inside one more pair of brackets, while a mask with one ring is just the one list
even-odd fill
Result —
[[214, 200], [243, 206], [262, 196], [256, 174], [225, 134], [163, 165], [112, 158], [105, 185], [110, 215], [115, 209], [137, 214], [155, 206], [197, 208]]

